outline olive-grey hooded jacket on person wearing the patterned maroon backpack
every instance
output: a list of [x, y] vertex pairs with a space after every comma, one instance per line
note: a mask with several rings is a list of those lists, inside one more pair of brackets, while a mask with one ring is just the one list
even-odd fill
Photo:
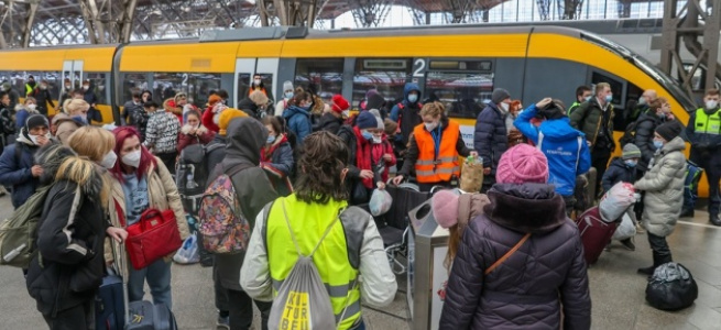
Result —
[[[255, 224], [258, 213], [266, 204], [277, 198], [264, 170], [258, 166], [261, 161], [260, 151], [266, 140], [267, 130], [258, 120], [252, 118], [233, 119], [228, 127], [226, 157], [220, 163], [223, 169], [230, 169], [241, 164], [250, 166], [233, 175], [232, 180], [242, 183], [242, 185], [236, 185], [236, 198], [240, 202], [240, 211], [250, 222], [251, 230]], [[218, 170], [214, 170], [209, 182], [212, 182], [218, 175]], [[244, 256], [244, 253], [216, 254], [216, 272], [222, 287], [242, 290], [240, 267]]]

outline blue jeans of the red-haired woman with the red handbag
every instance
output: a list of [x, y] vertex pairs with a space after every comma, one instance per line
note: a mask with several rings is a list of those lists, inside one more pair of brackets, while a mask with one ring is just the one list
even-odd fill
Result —
[[130, 301], [142, 300], [145, 296], [145, 279], [153, 295], [153, 304], [165, 304], [173, 309], [173, 295], [171, 293], [171, 263], [163, 258], [150, 264], [148, 267], [135, 271], [130, 266], [128, 278], [128, 298]]

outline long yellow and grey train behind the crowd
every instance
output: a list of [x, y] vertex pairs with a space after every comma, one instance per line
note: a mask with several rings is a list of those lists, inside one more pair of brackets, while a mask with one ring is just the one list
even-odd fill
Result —
[[[626, 47], [581, 30], [549, 25], [263, 28], [211, 31], [194, 40], [0, 52], [0, 79], [11, 80], [19, 91], [29, 75], [47, 79], [55, 97], [65, 78], [75, 86], [90, 80], [106, 121], [119, 121], [120, 107], [133, 88], [151, 90], [159, 103], [183, 90], [199, 107], [208, 91], [222, 88], [232, 106], [248, 94], [256, 74], [271, 98], [282, 95], [283, 81], [290, 80], [295, 86], [314, 85], [327, 99], [342, 94], [352, 105], [371, 88], [396, 99], [405, 82], [414, 81], [424, 91], [422, 98], [433, 96], [448, 106], [469, 144], [478, 105], [496, 87], [524, 103], [546, 96], [570, 103], [579, 85], [609, 82], [618, 135], [625, 128], [624, 108], [644, 89], [656, 89], [669, 99], [684, 123], [695, 109], [671, 78]], [[700, 188], [706, 196], [708, 188]]]

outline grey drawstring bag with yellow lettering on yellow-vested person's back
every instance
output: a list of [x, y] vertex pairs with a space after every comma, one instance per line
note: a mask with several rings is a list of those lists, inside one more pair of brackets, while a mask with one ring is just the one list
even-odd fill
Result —
[[[291, 221], [288, 221], [287, 211], [285, 209], [285, 201], [281, 202], [283, 207], [283, 216], [285, 223], [291, 232], [295, 251], [298, 253], [298, 260], [288, 273], [288, 276], [283, 280], [281, 287], [277, 289], [277, 296], [273, 299], [270, 317], [267, 320], [269, 329], [291, 329], [288, 324], [293, 324], [294, 329], [308, 329], [308, 330], [326, 330], [337, 329], [336, 316], [334, 314], [332, 305], [330, 304], [330, 296], [328, 289], [320, 278], [318, 267], [313, 262], [313, 255], [318, 251], [320, 243], [328, 237], [332, 227], [340, 219], [342, 211], [338, 217], [328, 226], [323, 237], [313, 249], [310, 254], [303, 255], [298, 241], [293, 234]], [[270, 213], [267, 208], [265, 217]], [[267, 223], [266, 223], [267, 226]], [[358, 285], [358, 280], [353, 285]], [[342, 320], [346, 311], [348, 310], [348, 299], [346, 297], [346, 308], [343, 308], [339, 320]]]

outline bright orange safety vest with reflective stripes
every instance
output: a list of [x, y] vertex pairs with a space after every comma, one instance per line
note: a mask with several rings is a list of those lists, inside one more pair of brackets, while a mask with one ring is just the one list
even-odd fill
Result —
[[418, 160], [416, 160], [416, 178], [420, 184], [449, 182], [456, 175], [460, 175], [460, 164], [456, 145], [460, 136], [460, 125], [448, 121], [448, 127], [441, 130], [440, 151], [436, 158], [436, 144], [426, 131], [424, 124], [413, 129], [413, 136], [418, 145]]

